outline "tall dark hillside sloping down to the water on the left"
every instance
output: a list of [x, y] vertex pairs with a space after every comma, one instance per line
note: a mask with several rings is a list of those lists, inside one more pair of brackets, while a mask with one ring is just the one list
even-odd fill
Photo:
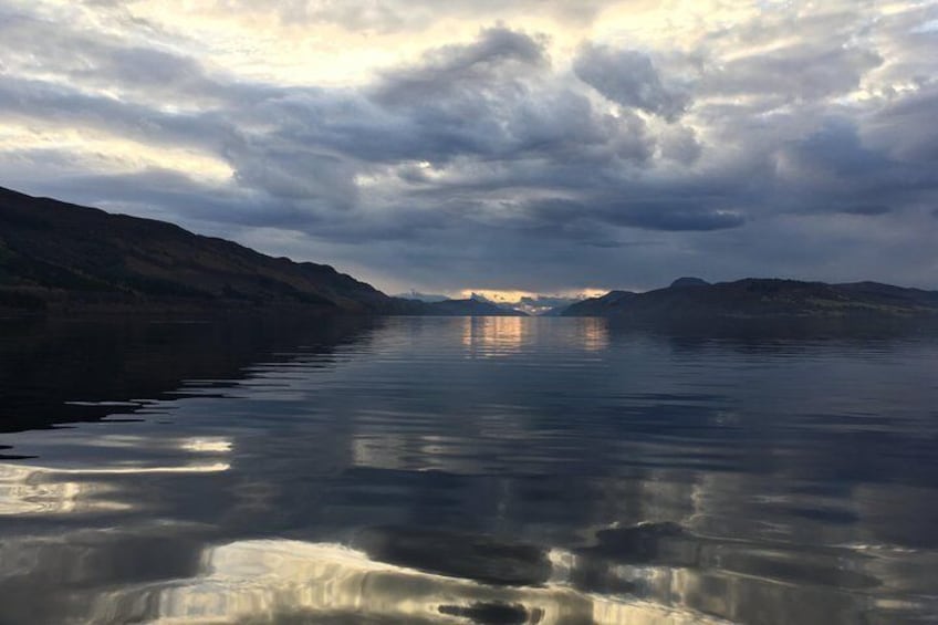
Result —
[[326, 264], [0, 188], [0, 309], [257, 305], [427, 313]]

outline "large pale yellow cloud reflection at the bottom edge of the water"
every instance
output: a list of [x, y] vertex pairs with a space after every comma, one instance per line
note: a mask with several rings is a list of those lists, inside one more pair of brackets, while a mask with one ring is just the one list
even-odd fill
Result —
[[[119, 605], [124, 615], [166, 625], [272, 623], [290, 615], [304, 623], [342, 622], [343, 615], [358, 623], [402, 624], [721, 622], [645, 601], [590, 596], [569, 586], [499, 587], [434, 575], [376, 562], [341, 544], [241, 541], [208, 549], [201, 562], [201, 576], [107, 595], [101, 613]], [[487, 608], [504, 619], [481, 619]]]

